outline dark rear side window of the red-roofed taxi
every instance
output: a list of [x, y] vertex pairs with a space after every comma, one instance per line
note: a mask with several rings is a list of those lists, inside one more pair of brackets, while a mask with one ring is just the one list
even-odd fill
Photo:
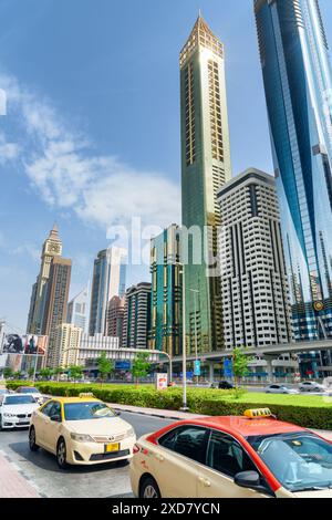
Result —
[[208, 437], [209, 430], [207, 428], [181, 426], [164, 435], [159, 439], [159, 445], [191, 460], [205, 464]]

